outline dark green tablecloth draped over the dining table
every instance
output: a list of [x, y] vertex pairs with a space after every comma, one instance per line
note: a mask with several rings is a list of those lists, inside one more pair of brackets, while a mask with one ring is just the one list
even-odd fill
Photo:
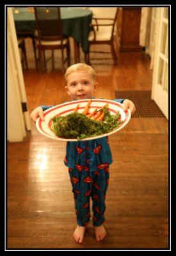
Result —
[[[53, 7], [49, 7], [52, 12]], [[13, 8], [14, 10], [14, 8]], [[29, 31], [36, 29], [35, 13], [29, 12], [28, 8], [18, 8], [19, 13], [13, 12], [16, 31]], [[92, 11], [87, 9], [61, 7], [61, 21], [63, 35], [72, 36], [84, 52], [88, 52], [89, 24], [92, 22]]]

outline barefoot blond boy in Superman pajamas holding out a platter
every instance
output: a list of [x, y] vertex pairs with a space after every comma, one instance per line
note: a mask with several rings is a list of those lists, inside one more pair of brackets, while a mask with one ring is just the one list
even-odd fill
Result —
[[[72, 100], [92, 99], [97, 90], [95, 71], [92, 67], [78, 63], [70, 66], [65, 73], [65, 89]], [[115, 99], [124, 104], [134, 113], [135, 106], [131, 100]], [[36, 121], [40, 116], [44, 120], [45, 109], [51, 106], [40, 106], [33, 110], [31, 119]], [[101, 241], [106, 237], [103, 222], [106, 209], [105, 198], [109, 183], [109, 164], [112, 163], [111, 149], [108, 136], [88, 141], [67, 141], [67, 154], [64, 163], [68, 172], [74, 193], [77, 227], [73, 237], [77, 243], [82, 243], [86, 225], [90, 221], [90, 197], [92, 198], [93, 226], [95, 237]]]

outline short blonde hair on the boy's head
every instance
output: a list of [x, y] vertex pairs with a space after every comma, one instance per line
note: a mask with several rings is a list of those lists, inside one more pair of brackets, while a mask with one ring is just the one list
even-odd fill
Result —
[[95, 76], [96, 76], [95, 70], [85, 63], [77, 63], [67, 68], [65, 72], [66, 83], [67, 83], [67, 76], [74, 72], [83, 72], [83, 73], [90, 74], [90, 76], [92, 76], [92, 79], [95, 81]]

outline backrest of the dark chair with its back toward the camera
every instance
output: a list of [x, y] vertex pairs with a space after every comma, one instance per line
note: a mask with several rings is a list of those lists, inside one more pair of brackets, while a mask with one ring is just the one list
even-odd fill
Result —
[[60, 7], [35, 7], [38, 40], [63, 40]]

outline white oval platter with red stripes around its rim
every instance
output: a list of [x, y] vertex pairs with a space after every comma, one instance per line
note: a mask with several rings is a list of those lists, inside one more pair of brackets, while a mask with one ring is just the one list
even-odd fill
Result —
[[[36, 120], [36, 128], [38, 131], [43, 134], [44, 136], [47, 136], [48, 138], [54, 139], [54, 140], [60, 140], [60, 141], [78, 141], [77, 139], [65, 139], [65, 138], [60, 138], [56, 136], [50, 129], [51, 127], [51, 118], [57, 115], [68, 115], [69, 113], [72, 113], [74, 109], [76, 108], [77, 104], [79, 104], [78, 112], [82, 113], [83, 109], [85, 108], [87, 102], [89, 99], [85, 100], [74, 100], [71, 102], [65, 102], [60, 105], [56, 105], [52, 108], [49, 108], [44, 111], [44, 121], [42, 121], [40, 118]], [[120, 131], [122, 128], [127, 125], [131, 118], [131, 112], [129, 109], [127, 111], [123, 111], [122, 109], [122, 104], [119, 102], [116, 102], [114, 100], [105, 100], [105, 99], [92, 99], [92, 102], [90, 104], [89, 112], [91, 113], [93, 109], [95, 108], [102, 108], [108, 103], [108, 110], [111, 112], [111, 115], [115, 115], [118, 111], [120, 111], [121, 118], [124, 121], [121, 125], [119, 125], [114, 131], [111, 131], [106, 134], [102, 134], [99, 136], [94, 136], [90, 138], [86, 138], [81, 141], [86, 141], [86, 140], [95, 140], [98, 138], [102, 138], [105, 136], [109, 136], [117, 131]]]

